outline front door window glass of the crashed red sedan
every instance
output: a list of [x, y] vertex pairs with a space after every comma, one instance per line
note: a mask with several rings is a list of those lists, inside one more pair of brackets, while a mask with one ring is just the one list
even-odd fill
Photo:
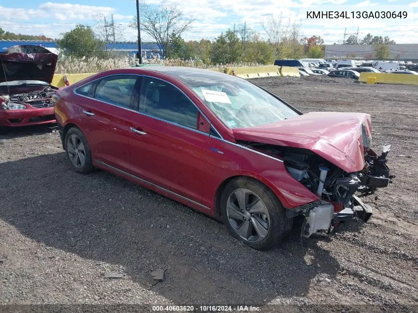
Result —
[[160, 80], [144, 78], [139, 112], [197, 129], [198, 110], [194, 104], [179, 89]]

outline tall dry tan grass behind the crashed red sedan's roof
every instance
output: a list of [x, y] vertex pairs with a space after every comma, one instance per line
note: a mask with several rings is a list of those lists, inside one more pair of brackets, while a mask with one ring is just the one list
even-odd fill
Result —
[[[219, 68], [224, 71], [226, 67], [253, 66], [256, 63], [239, 62], [234, 64], [207, 65], [201, 61], [183, 59], [148, 59], [149, 64], [160, 64], [165, 66], [186, 66], [195, 68]], [[138, 64], [138, 59], [134, 56], [120, 56], [110, 59], [99, 59], [97, 57], [75, 58], [71, 56], [59, 56], [55, 67], [56, 74], [78, 74], [78, 73], [98, 73], [108, 70], [129, 68]]]

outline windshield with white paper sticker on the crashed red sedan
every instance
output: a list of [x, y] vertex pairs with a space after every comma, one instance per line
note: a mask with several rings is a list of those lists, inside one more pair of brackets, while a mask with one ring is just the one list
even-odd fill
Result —
[[263, 89], [231, 78], [188, 83], [228, 128], [260, 126], [299, 115]]

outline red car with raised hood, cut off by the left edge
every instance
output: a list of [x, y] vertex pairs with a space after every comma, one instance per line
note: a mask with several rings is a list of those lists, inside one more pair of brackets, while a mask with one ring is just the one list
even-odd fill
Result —
[[0, 127], [55, 122], [50, 85], [57, 55], [37, 45], [0, 52]]

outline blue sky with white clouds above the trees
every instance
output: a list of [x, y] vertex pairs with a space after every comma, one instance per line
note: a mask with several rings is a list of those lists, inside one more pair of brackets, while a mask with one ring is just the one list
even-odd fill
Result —
[[[366, 34], [388, 36], [398, 44], [418, 43], [418, 1], [412, 0], [145, 0], [145, 3], [177, 4], [185, 16], [195, 21], [183, 34], [186, 40], [213, 40], [221, 32], [245, 26], [267, 38], [261, 23], [272, 14], [300, 25], [301, 35], [321, 36], [325, 44], [340, 44], [355, 34], [359, 39]], [[407, 18], [307, 18], [308, 11], [407, 12]], [[135, 41], [137, 31], [128, 27], [136, 16], [135, 0], [19, 0], [0, 1], [0, 27], [3, 30], [27, 35], [59, 38], [76, 24], [93, 26], [93, 16], [100, 14], [110, 20], [111, 14], [121, 40]], [[355, 15], [357, 13], [354, 13]], [[351, 16], [350, 16], [351, 17]], [[149, 39], [142, 35], [142, 41]]]

